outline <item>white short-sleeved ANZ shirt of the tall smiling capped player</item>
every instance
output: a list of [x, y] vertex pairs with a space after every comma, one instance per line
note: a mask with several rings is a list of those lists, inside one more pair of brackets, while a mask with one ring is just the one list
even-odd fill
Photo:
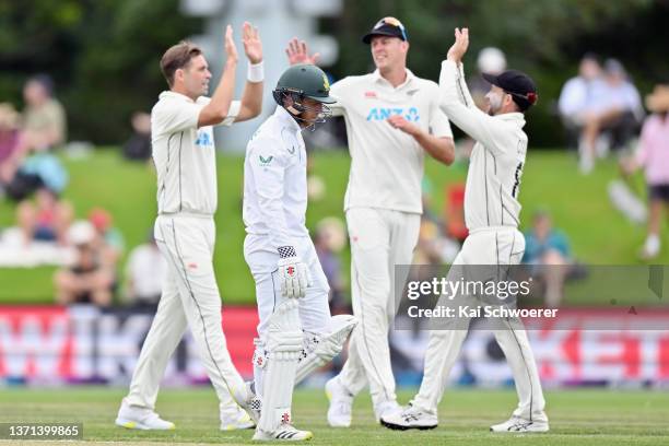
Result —
[[422, 213], [424, 150], [386, 120], [401, 115], [435, 137], [453, 138], [448, 119], [438, 107], [438, 85], [407, 70], [404, 83], [394, 87], [376, 70], [336, 82], [330, 95], [337, 99], [330, 108], [347, 122], [351, 153], [344, 210]]

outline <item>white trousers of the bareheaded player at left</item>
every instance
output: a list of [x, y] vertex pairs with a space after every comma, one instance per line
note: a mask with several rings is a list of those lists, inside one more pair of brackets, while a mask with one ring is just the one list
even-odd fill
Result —
[[215, 225], [210, 216], [159, 215], [154, 236], [167, 260], [163, 294], [126, 402], [153, 409], [167, 361], [190, 328], [221, 407], [246, 401], [244, 380], [230, 357], [223, 334], [221, 296], [213, 271]]

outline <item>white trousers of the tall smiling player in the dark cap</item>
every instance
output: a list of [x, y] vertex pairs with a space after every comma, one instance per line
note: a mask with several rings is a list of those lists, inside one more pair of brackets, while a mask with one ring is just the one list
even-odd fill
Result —
[[[339, 382], [351, 394], [367, 384], [374, 407], [395, 401], [388, 329], [395, 317], [396, 265], [411, 265], [421, 215], [388, 209], [347, 211], [351, 239], [351, 294], [359, 324], [349, 342], [349, 359]], [[401, 279], [402, 281], [406, 278]]]

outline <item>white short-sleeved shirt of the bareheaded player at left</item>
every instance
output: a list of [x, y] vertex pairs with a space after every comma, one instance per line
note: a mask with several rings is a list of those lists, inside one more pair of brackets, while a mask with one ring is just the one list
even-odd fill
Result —
[[[159, 214], [186, 212], [213, 215], [216, 210], [216, 156], [211, 126], [198, 129], [200, 110], [211, 99], [193, 102], [172, 91], [163, 92], [151, 110], [151, 144], [157, 172]], [[233, 101], [230, 126], [239, 111]]]

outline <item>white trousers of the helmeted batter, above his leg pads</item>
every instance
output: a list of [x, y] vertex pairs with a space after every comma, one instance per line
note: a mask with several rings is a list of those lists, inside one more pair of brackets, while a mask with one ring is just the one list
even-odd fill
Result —
[[[295, 251], [306, 265], [310, 279], [306, 295], [298, 300], [302, 330], [321, 334], [330, 328], [328, 279], [322, 272], [312, 239], [305, 236], [295, 238], [294, 242]], [[248, 234], [244, 239], [244, 258], [256, 282], [258, 337], [265, 342], [267, 341], [268, 319], [274, 312], [274, 306], [286, 298], [281, 295], [281, 283], [277, 269], [279, 253], [271, 247], [267, 235]]]

